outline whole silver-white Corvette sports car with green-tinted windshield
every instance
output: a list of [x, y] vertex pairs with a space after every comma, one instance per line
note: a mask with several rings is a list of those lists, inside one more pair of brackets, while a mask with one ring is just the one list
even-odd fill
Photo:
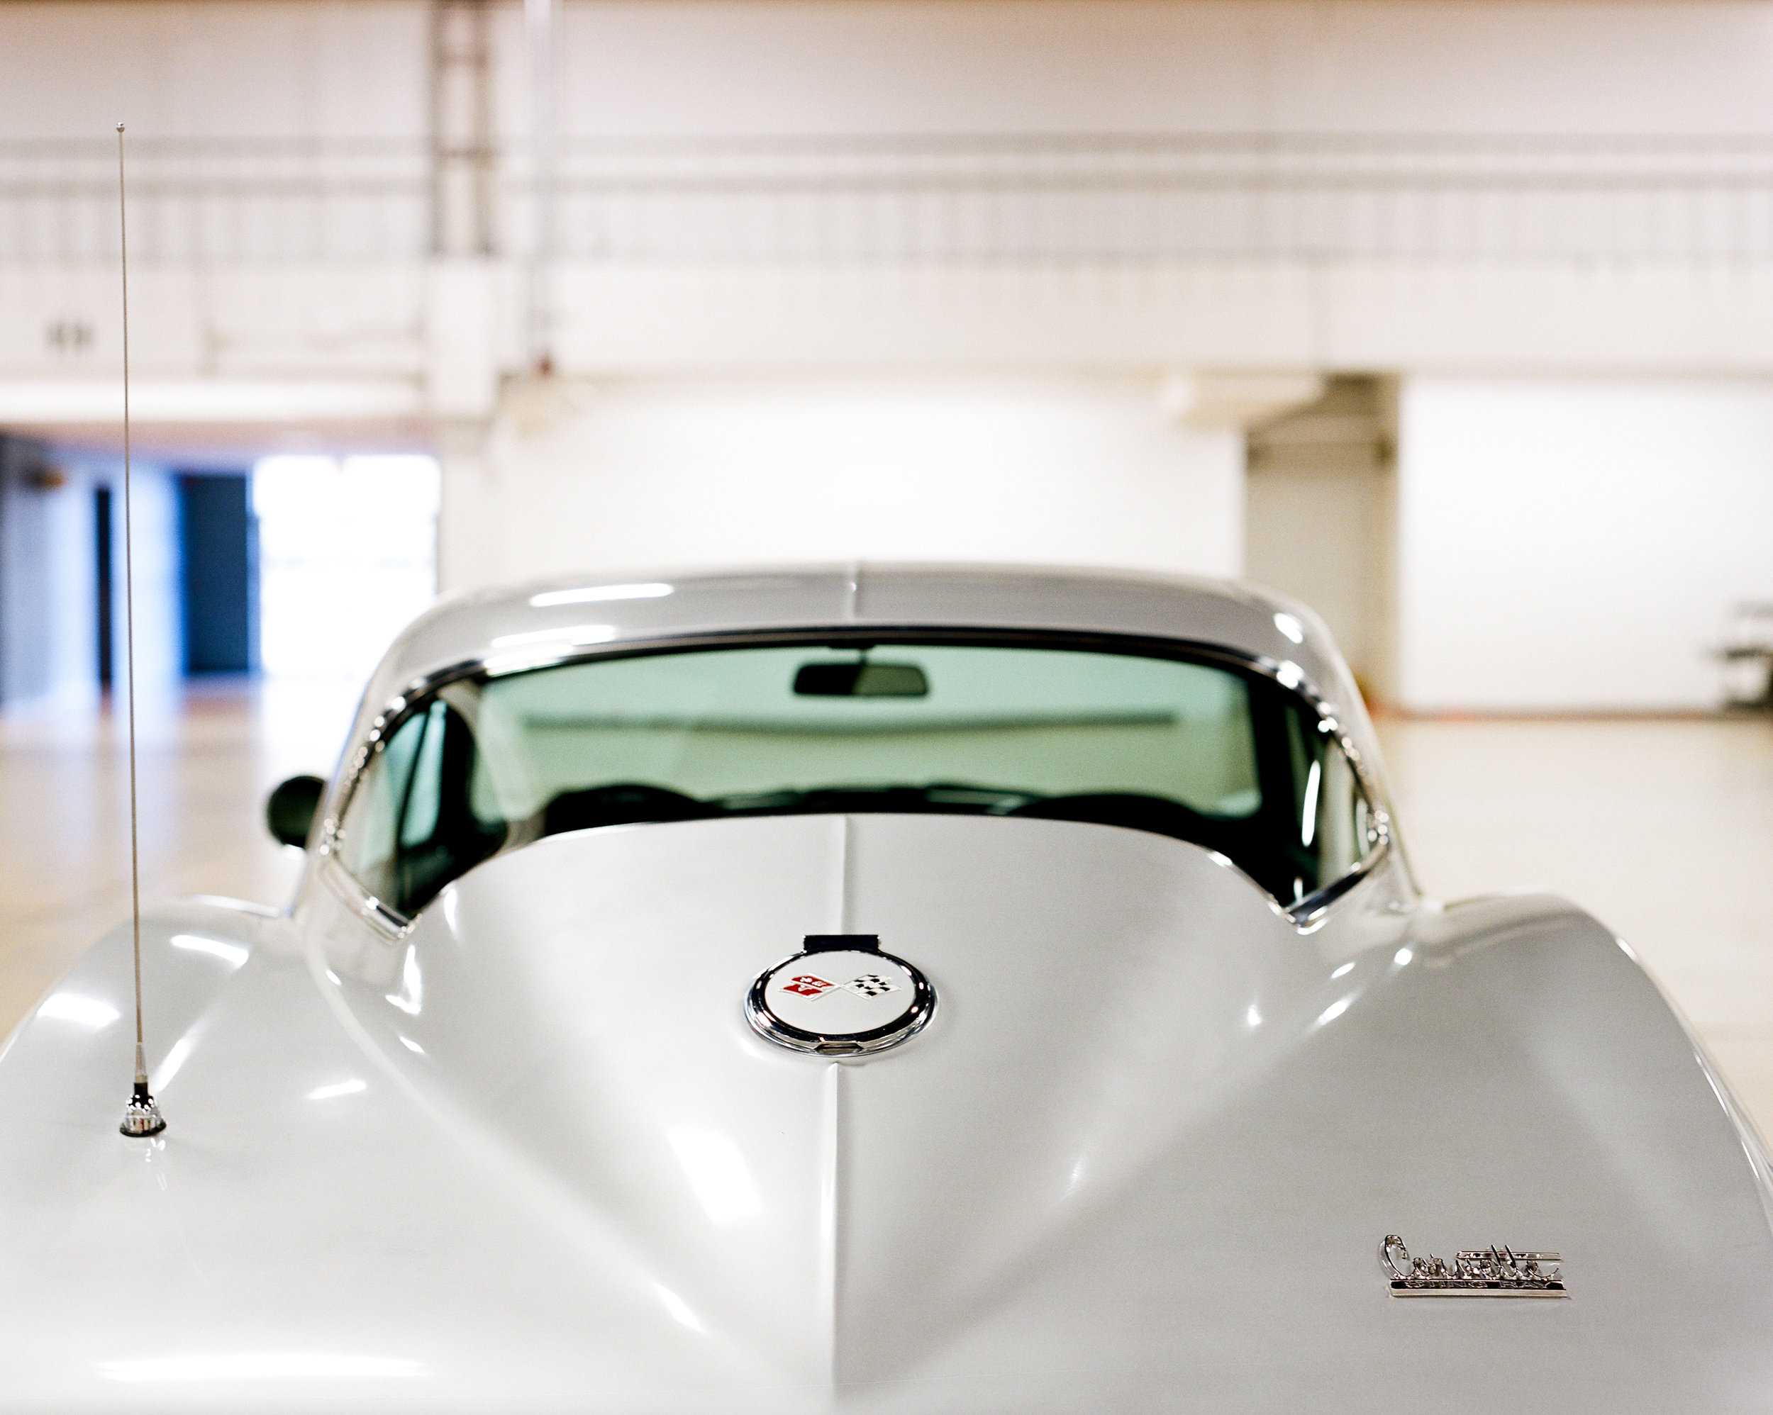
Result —
[[1752, 1128], [1601, 924], [1418, 895], [1296, 605], [477, 594], [271, 817], [291, 911], [144, 920], [165, 1133], [128, 927], [7, 1044], [5, 1410], [1773, 1410]]

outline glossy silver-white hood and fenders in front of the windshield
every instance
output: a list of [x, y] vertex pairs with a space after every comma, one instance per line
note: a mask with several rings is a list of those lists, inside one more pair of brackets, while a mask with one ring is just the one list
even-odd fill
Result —
[[[876, 612], [959, 614], [940, 590]], [[757, 1037], [745, 993], [808, 933], [879, 934], [931, 1025], [847, 1062]], [[115, 1133], [128, 931], [0, 1060], [0, 1408], [1773, 1390], [1764, 1161], [1654, 986], [1580, 911], [1441, 911], [1397, 855], [1298, 929], [1108, 826], [615, 826], [489, 860], [401, 940], [316, 872], [289, 919], [193, 901], [145, 942], [161, 1140]], [[1386, 1232], [1558, 1248], [1573, 1300], [1394, 1302]]]

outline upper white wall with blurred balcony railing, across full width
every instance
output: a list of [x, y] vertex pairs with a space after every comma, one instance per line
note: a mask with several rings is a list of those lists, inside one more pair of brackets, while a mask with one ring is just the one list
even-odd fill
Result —
[[[202, 410], [183, 424], [300, 434], [319, 420], [482, 415], [433, 376], [450, 346], [479, 340], [473, 399], [489, 404], [496, 376], [525, 365], [527, 57], [521, 5], [491, 9], [500, 259], [441, 271], [426, 264], [426, 0], [0, 5], [0, 133], [16, 144], [0, 156], [0, 418], [60, 434], [113, 417], [115, 117], [137, 138], [135, 358], [144, 374], [204, 385], [191, 401], [191, 388], [144, 387], [144, 420], [170, 422], [183, 404]], [[1773, 133], [1769, 69], [1773, 0], [569, 0], [555, 367], [1764, 372], [1764, 163], [1732, 144]], [[1255, 144], [1225, 168], [1245, 183], [1225, 206], [1193, 192], [1172, 207], [1145, 177], [1122, 200], [1124, 149], [1066, 152], [1090, 133], [1215, 129], [1378, 138], [1332, 144], [1342, 156], [1323, 160], [1323, 188], [1300, 176], [1317, 172], [1310, 142], [1284, 144], [1278, 167]], [[874, 163], [835, 144], [832, 172], [849, 176], [810, 177], [801, 200], [796, 163], [771, 149], [761, 195], [739, 177], [706, 206], [697, 183], [746, 167], [729, 168], [720, 140], [761, 133], [947, 133], [973, 152], [943, 177], [945, 161], [888, 142], [879, 172], [910, 186], [874, 192], [860, 181]], [[1027, 144], [1035, 168], [1096, 172], [1103, 190], [1082, 204], [1002, 199], [979, 140], [1016, 133], [1048, 135]], [[1383, 142], [1461, 133], [1505, 137], [1475, 156]], [[1514, 142], [1582, 133], [1722, 137], [1663, 156], [1633, 147], [1624, 167], [1605, 144]], [[674, 206], [594, 186], [596, 170], [629, 170], [576, 142], [598, 135], [690, 137], [695, 190]], [[78, 144], [37, 142], [64, 138]], [[665, 161], [651, 151], [642, 177]], [[1661, 172], [1642, 202], [1640, 163]], [[660, 239], [638, 241], [651, 254], [635, 259], [610, 254], [622, 232], [684, 227], [706, 229], [711, 250], [690, 261]], [[876, 229], [911, 232], [913, 246], [934, 232], [929, 259], [876, 262]], [[823, 236], [807, 248], [824, 255], [794, 255], [808, 231], [835, 232], [837, 255]], [[1149, 236], [1161, 252], [1165, 231], [1232, 232], [1250, 248], [1066, 254], [1067, 241], [1094, 248], [1092, 231], [1135, 250]], [[1009, 245], [973, 259], [979, 232]], [[1280, 254], [1262, 254], [1264, 232], [1280, 234]], [[1557, 255], [1564, 243], [1589, 255]], [[1023, 246], [1035, 255], [1004, 254]], [[466, 294], [473, 280], [484, 294]], [[246, 378], [301, 387], [222, 383]]]

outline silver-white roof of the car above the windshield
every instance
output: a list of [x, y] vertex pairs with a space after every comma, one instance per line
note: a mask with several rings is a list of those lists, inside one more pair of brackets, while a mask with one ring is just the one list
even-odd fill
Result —
[[388, 649], [353, 741], [395, 699], [470, 665], [516, 668], [598, 644], [865, 624], [1138, 635], [1230, 649], [1316, 697], [1378, 766], [1360, 693], [1330, 631], [1285, 596], [1230, 580], [952, 564], [567, 575], [445, 596]]

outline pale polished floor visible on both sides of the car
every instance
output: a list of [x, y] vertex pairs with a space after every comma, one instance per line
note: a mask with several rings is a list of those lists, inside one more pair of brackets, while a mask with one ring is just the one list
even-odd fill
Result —
[[[261, 816], [328, 775], [346, 684], [213, 686], [140, 708], [144, 899], [282, 903], [301, 856]], [[1402, 839], [1440, 899], [1564, 894], [1626, 938], [1773, 1133], [1773, 720], [1381, 725]], [[105, 711], [0, 716], [0, 1030], [129, 911], [126, 755]]]

